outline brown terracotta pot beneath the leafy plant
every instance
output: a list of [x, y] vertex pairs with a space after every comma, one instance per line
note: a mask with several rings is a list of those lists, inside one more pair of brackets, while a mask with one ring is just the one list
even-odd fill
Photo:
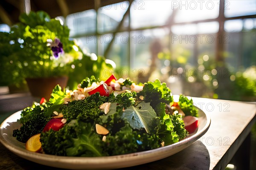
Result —
[[42, 98], [49, 101], [53, 88], [60, 85], [63, 89], [67, 86], [68, 77], [41, 77], [41, 78], [26, 78], [29, 86], [29, 91], [32, 96]]

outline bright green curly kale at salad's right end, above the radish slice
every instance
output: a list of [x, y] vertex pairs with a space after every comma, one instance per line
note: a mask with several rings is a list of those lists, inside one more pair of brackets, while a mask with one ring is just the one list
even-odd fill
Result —
[[189, 100], [186, 96], [180, 95], [178, 104], [186, 116], [198, 117], [198, 109], [193, 105], [192, 99]]

